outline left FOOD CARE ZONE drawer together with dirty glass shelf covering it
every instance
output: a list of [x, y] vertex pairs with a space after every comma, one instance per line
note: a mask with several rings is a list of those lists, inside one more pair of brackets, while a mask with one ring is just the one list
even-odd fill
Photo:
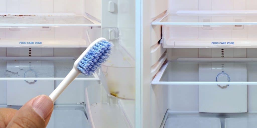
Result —
[[87, 47], [88, 31], [100, 23], [72, 13], [0, 15], [0, 47]]

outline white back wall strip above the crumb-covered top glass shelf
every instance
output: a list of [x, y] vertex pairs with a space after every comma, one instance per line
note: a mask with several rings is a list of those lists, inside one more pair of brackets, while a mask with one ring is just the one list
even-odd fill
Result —
[[85, 0], [1, 0], [0, 12], [7, 13], [85, 13]]

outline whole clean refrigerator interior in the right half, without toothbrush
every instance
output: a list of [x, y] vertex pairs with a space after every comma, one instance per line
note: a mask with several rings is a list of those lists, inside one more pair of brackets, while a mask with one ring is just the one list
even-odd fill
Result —
[[255, 127], [256, 4], [144, 4], [143, 127]]

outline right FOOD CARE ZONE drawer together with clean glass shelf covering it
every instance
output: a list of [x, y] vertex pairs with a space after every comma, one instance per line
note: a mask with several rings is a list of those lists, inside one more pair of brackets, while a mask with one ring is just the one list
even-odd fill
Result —
[[155, 20], [164, 48], [256, 48], [257, 11], [178, 11]]

